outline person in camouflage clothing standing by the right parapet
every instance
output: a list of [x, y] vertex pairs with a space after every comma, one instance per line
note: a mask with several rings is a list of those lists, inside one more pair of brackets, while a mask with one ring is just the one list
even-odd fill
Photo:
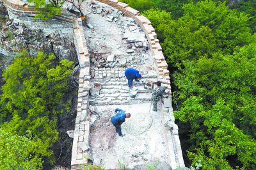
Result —
[[157, 111], [157, 102], [162, 97], [164, 90], [166, 89], [165, 86], [161, 86], [161, 82], [157, 81], [154, 82], [156, 84], [156, 88], [153, 89], [152, 92], [152, 102], [153, 102], [153, 111]]

